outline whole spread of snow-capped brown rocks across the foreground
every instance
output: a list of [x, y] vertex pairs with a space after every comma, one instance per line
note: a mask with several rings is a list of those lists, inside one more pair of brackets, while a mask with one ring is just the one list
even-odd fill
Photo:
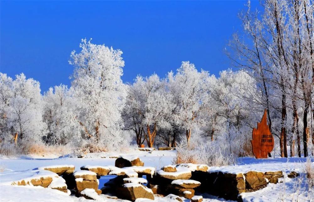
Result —
[[[120, 156], [115, 166], [82, 166], [81, 170], [74, 170], [73, 165], [39, 167], [28, 171], [27, 177], [12, 181], [12, 184], [42, 186], [68, 194], [72, 190], [78, 197], [100, 201], [107, 198], [130, 201], [154, 199], [154, 194], [160, 194], [178, 201], [184, 197], [191, 202], [202, 202], [202, 196], [195, 196], [196, 191], [241, 201], [241, 193], [262, 189], [268, 183], [279, 183], [284, 177], [282, 171], [228, 173], [191, 163], [168, 165], [155, 171], [154, 167], [144, 166], [136, 156]], [[116, 177], [99, 190], [98, 179], [106, 175]], [[292, 171], [288, 177], [298, 175]]]

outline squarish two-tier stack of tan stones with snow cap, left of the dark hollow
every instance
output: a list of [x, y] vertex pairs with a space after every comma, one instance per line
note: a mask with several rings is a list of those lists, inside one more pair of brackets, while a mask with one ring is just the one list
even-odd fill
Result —
[[98, 190], [99, 181], [95, 172], [84, 170], [75, 171], [73, 176], [75, 178], [75, 189], [77, 196], [80, 196], [80, 192], [86, 188], [94, 189], [96, 193], [101, 194], [101, 190]]

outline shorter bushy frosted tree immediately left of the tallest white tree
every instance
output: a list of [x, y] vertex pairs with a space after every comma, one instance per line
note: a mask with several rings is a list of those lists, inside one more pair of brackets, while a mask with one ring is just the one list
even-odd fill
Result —
[[72, 89], [65, 85], [55, 86], [43, 96], [43, 118], [49, 133], [45, 141], [50, 144], [66, 144], [78, 141], [82, 129], [75, 119], [77, 106], [72, 97]]

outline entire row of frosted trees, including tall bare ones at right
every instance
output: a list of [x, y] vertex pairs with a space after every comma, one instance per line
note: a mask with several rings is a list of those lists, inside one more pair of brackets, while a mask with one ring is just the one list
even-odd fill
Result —
[[1, 144], [117, 148], [131, 136], [148, 147], [220, 141], [230, 153], [251, 155], [252, 128], [267, 109], [282, 157], [313, 154], [313, 2], [262, 6], [251, 11], [248, 2], [239, 14], [243, 31], [226, 48], [233, 70], [218, 77], [184, 61], [165, 77], [123, 83], [122, 51], [86, 39], [71, 53], [70, 87], [41, 95], [38, 81], [0, 73]]

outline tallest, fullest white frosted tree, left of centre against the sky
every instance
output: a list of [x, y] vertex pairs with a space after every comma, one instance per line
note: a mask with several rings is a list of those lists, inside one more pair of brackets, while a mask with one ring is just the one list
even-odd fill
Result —
[[121, 112], [126, 97], [121, 50], [82, 39], [81, 51], [71, 53], [73, 97], [78, 105], [76, 120], [85, 137], [108, 148], [123, 142]]

